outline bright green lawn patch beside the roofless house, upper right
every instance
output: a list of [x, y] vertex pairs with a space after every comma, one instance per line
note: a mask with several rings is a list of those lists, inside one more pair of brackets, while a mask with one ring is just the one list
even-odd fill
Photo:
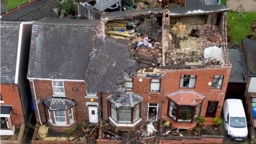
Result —
[[230, 18], [233, 13], [234, 12], [227, 13], [227, 23], [230, 26], [228, 36], [231, 42], [241, 43], [242, 38], [246, 38], [247, 35], [252, 33], [250, 25], [251, 21], [256, 19], [256, 12], [242, 13], [242, 17], [238, 17], [238, 13], [236, 12], [233, 17]]

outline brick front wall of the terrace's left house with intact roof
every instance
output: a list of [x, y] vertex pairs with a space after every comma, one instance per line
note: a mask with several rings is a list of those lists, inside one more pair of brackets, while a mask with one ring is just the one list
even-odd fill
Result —
[[[41, 116], [41, 121], [45, 123], [46, 118], [45, 118], [44, 107], [43, 107], [43, 99], [52, 97], [52, 94], [53, 94], [52, 81], [34, 80], [34, 85], [35, 85], [36, 97], [37, 99], [40, 98], [40, 102], [38, 103], [38, 108]], [[64, 86], [65, 86], [65, 94], [67, 98], [74, 99], [77, 102], [77, 106], [73, 107], [74, 118], [76, 119], [77, 123], [83, 123], [84, 120], [89, 121], [88, 107], [86, 107], [86, 102], [91, 102], [91, 101], [89, 98], [85, 98], [86, 96], [85, 82], [65, 81]], [[77, 87], [78, 91], [73, 91], [72, 89], [73, 87]], [[30, 88], [31, 88], [31, 94], [34, 100], [35, 96], [34, 96], [32, 82], [30, 82]], [[100, 92], [97, 93], [99, 99], [100, 99], [100, 94], [101, 94]], [[99, 102], [99, 99], [94, 99], [93, 102]], [[34, 106], [36, 110], [35, 100], [34, 100]], [[100, 112], [101, 110], [100, 106], [101, 106], [101, 103], [99, 103], [98, 112]], [[46, 111], [46, 115], [48, 115], [47, 111]], [[36, 111], [36, 116], [37, 116], [37, 111]], [[38, 118], [37, 118], [37, 121], [39, 121]]]

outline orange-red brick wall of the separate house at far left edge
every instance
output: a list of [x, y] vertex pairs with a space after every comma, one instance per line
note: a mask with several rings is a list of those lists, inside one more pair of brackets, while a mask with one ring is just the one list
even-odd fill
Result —
[[4, 103], [1, 103], [0, 105], [12, 105], [12, 124], [20, 126], [25, 120], [23, 117], [18, 85], [1, 84], [1, 95]]

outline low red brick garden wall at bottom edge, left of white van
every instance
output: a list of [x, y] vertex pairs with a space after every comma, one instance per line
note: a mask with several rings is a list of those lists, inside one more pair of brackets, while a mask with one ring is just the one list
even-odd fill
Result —
[[171, 143], [222, 143], [223, 135], [202, 135], [201, 137], [162, 137], [159, 143], [171, 144]]

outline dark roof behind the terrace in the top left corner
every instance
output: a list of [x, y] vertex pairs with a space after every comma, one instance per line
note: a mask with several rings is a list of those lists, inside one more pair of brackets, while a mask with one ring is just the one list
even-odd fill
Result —
[[33, 0], [1, 12], [1, 20], [36, 21], [45, 17], [59, 18], [57, 8], [58, 0]]

